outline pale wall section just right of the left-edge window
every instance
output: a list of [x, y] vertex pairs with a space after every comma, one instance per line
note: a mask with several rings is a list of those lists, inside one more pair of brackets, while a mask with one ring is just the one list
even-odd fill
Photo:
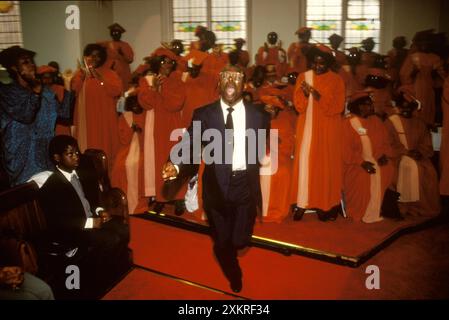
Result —
[[80, 32], [65, 28], [65, 9], [78, 2], [21, 1], [24, 47], [37, 52], [37, 65], [56, 60], [61, 70], [76, 67], [80, 53]]

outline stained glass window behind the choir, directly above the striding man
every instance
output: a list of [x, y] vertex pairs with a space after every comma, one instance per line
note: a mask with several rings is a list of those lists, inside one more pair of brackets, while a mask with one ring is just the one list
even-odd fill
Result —
[[235, 38], [247, 37], [247, 0], [173, 0], [173, 38], [185, 46], [197, 40], [198, 25], [212, 30], [226, 51]]

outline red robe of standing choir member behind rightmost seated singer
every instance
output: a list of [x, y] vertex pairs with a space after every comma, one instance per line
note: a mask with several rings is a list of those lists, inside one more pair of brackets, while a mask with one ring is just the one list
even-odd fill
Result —
[[439, 70], [441, 64], [441, 58], [436, 54], [415, 52], [407, 56], [400, 72], [403, 85], [414, 85], [416, 99], [422, 107], [419, 116], [428, 125], [435, 122], [435, 83], [432, 72]]

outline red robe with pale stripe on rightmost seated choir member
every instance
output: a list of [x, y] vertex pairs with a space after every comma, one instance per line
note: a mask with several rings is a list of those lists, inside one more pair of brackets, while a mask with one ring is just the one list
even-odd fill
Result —
[[[417, 117], [407, 119], [391, 115], [385, 122], [398, 170], [396, 191], [402, 214], [436, 216], [440, 212], [438, 176], [432, 164], [432, 137], [426, 124]], [[416, 161], [407, 156], [409, 150], [419, 151], [423, 158]]]

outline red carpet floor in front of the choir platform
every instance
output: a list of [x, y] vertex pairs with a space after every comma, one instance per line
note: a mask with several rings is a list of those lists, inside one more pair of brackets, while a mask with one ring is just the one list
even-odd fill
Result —
[[[137, 218], [131, 227], [136, 264], [229, 291], [207, 236]], [[356, 269], [257, 248], [241, 263], [240, 295], [251, 299], [448, 299], [449, 225], [405, 235]], [[380, 269], [380, 290], [365, 287], [368, 265]], [[134, 270], [104, 299], [232, 298], [161, 279]]]

